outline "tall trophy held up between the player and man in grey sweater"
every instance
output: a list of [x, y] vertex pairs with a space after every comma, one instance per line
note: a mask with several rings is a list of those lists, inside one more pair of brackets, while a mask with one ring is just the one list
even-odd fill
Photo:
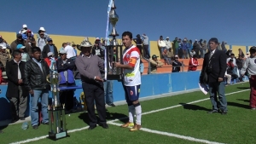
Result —
[[[121, 68], [117, 68], [114, 66], [114, 62], [123, 63], [122, 44], [119, 44], [115, 38], [119, 36], [117, 31], [115, 30], [116, 23], [119, 20], [119, 15], [115, 12], [116, 7], [113, 3], [113, 0], [111, 2], [111, 5], [109, 5], [110, 11], [108, 15], [108, 20], [109, 23], [113, 26], [113, 29], [112, 32], [109, 35], [107, 35], [111, 36], [112, 40], [110, 41], [110, 43], [105, 43], [105, 79], [121, 80], [123, 70]], [[108, 39], [106, 39], [106, 41], [108, 41]]]

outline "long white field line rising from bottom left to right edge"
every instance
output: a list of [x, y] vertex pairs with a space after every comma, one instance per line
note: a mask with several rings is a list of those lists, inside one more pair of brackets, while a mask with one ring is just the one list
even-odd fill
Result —
[[[226, 94], [226, 95], [233, 95], [233, 94], [241, 93], [241, 92], [244, 92], [244, 91], [247, 91], [247, 90], [250, 90], [250, 89], [244, 89], [244, 90], [232, 92], [232, 93], [229, 93], [229, 94]], [[189, 102], [187, 104], [192, 104], [192, 103], [201, 102], [201, 101], [207, 101], [207, 100], [209, 100], [209, 98], [202, 99], [202, 100], [199, 100], [199, 101], [191, 101], [191, 102]], [[186, 105], [186, 104], [184, 104], [184, 105]], [[172, 109], [172, 108], [181, 107], [181, 106], [183, 106], [183, 105], [176, 105], [176, 106], [172, 106], [172, 107], [160, 108], [158, 110], [153, 110], [153, 111], [149, 111], [149, 112], [143, 112], [143, 115], [149, 114], [149, 113], [154, 113], [154, 112], [165, 111], [167, 109]], [[127, 118], [127, 117], [125, 117], [125, 118]], [[118, 118], [118, 119], [110, 120], [110, 121], [108, 121], [108, 124], [115, 124], [113, 122], [116, 122], [116, 121], [119, 121], [120, 119], [125, 119], [125, 118]], [[81, 128], [81, 129], [68, 130], [67, 133], [73, 133], [73, 132], [80, 131], [80, 130], [85, 130], [85, 129], [88, 129], [88, 128], [89, 128], [89, 126], [85, 126], [85, 127]], [[143, 130], [145, 130], [145, 128], [143, 128]], [[175, 135], [175, 134], [173, 134], [173, 135]], [[27, 139], [27, 140], [24, 140], [24, 141], [16, 141], [16, 142], [13, 142], [11, 144], [20, 144], [20, 143], [26, 143], [26, 142], [31, 142], [31, 141], [38, 141], [38, 140], [41, 140], [41, 139], [44, 139], [44, 138], [47, 138], [47, 137], [48, 137], [48, 135], [44, 135], [44, 136], [35, 137], [35, 138], [32, 138], [32, 139]], [[187, 136], [187, 137], [189, 137], [189, 136]], [[219, 143], [216, 143], [216, 144], [219, 144]]]

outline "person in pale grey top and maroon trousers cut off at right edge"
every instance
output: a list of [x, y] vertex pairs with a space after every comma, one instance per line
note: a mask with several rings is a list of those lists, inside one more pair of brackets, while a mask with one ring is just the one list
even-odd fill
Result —
[[241, 76], [247, 72], [247, 76], [250, 81], [250, 107], [252, 110], [256, 110], [256, 47], [253, 46], [249, 50], [250, 57], [248, 57], [241, 68]]

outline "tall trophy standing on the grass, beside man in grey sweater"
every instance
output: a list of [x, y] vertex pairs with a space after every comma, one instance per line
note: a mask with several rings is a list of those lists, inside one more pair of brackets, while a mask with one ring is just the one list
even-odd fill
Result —
[[49, 82], [53, 97], [53, 103], [48, 106], [49, 114], [49, 139], [57, 140], [67, 137], [65, 105], [61, 106], [59, 99], [59, 73], [56, 72], [56, 61], [51, 60], [50, 72], [46, 80]]

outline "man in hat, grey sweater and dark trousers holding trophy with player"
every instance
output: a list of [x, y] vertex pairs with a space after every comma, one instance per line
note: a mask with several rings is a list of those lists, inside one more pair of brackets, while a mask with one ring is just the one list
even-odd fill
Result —
[[79, 70], [84, 90], [87, 111], [90, 120], [88, 130], [96, 128], [97, 118], [95, 114], [94, 101], [96, 101], [96, 110], [99, 115], [99, 125], [108, 129], [106, 122], [106, 107], [104, 100], [103, 79], [100, 69], [104, 69], [101, 58], [91, 54], [91, 44], [84, 39], [80, 44], [81, 55], [76, 58], [75, 64]]

